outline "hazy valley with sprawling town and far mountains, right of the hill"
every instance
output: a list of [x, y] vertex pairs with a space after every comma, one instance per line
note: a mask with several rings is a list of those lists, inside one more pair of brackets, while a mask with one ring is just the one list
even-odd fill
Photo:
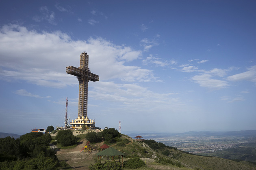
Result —
[[153, 139], [197, 155], [256, 162], [256, 131], [254, 130], [142, 135], [145, 139]]

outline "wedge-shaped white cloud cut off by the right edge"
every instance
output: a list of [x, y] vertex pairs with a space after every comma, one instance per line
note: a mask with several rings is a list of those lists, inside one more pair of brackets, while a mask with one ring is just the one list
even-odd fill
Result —
[[229, 76], [229, 81], [252, 81], [256, 82], [256, 66], [247, 68], [248, 71]]

